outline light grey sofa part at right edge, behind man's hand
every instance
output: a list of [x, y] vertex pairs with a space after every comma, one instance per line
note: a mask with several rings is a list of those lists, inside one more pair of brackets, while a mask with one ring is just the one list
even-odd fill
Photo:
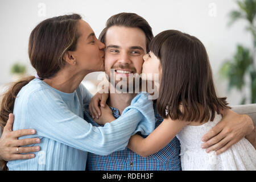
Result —
[[254, 125], [256, 126], [256, 104], [248, 105], [237, 105], [231, 106], [232, 110], [238, 114], [247, 114], [253, 119]]

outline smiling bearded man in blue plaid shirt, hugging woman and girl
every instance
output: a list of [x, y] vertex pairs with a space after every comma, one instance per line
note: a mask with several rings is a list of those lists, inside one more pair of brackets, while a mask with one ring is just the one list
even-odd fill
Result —
[[[116, 75], [122, 71], [141, 74], [142, 56], [148, 51], [148, 44], [152, 39], [151, 27], [146, 20], [136, 14], [121, 13], [112, 16], [107, 26], [102, 31], [100, 40], [106, 44], [105, 69], [110, 75], [110, 69]], [[117, 81], [117, 80], [116, 80]], [[115, 118], [121, 115], [125, 107], [130, 105], [135, 93], [110, 93], [107, 104], [112, 107]], [[155, 105], [154, 105], [155, 107]], [[85, 106], [85, 119], [94, 123], [90, 118], [88, 106]], [[155, 121], [158, 126], [163, 119], [156, 113]], [[0, 138], [0, 159], [30, 159], [33, 154], [14, 154], [11, 148], [38, 143], [35, 139], [18, 140], [18, 137], [30, 135], [30, 130], [11, 131], [13, 118], [9, 119], [5, 131]], [[223, 152], [242, 137], [249, 135], [254, 129], [253, 122], [246, 115], [238, 115], [226, 110], [222, 122], [218, 123], [207, 135], [204, 136], [204, 147], [208, 150]], [[180, 170], [179, 140], [174, 138], [165, 148], [158, 153], [142, 158], [126, 149], [114, 152], [108, 156], [90, 154], [87, 169], [96, 170]], [[20, 153], [37, 151], [35, 147], [19, 147]]]

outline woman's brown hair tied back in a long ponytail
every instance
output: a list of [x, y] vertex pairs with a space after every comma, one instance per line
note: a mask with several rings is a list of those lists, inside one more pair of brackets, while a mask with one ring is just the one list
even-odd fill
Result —
[[[75, 51], [79, 39], [78, 22], [79, 14], [56, 16], [43, 20], [32, 30], [28, 43], [28, 56], [32, 67], [36, 69], [39, 77], [51, 78], [65, 65], [63, 56], [67, 51]], [[30, 76], [13, 83], [2, 96], [0, 105], [0, 126], [3, 127], [13, 113], [14, 101], [23, 86], [33, 80]], [[0, 161], [0, 167], [7, 170], [5, 161]]]

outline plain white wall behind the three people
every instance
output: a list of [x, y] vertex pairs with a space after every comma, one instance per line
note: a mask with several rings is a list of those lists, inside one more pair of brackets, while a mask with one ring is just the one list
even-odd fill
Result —
[[[46, 6], [46, 16], [42, 16], [42, 3]], [[241, 100], [240, 94], [226, 93], [226, 82], [220, 81], [217, 75], [221, 63], [234, 54], [237, 43], [247, 47], [252, 45], [250, 34], [244, 30], [245, 22], [227, 27], [227, 14], [236, 8], [233, 0], [1, 0], [0, 84], [11, 81], [10, 67], [16, 61], [28, 64], [29, 72], [35, 73], [27, 55], [28, 37], [32, 28], [43, 19], [79, 13], [98, 36], [111, 15], [131, 12], [143, 16], [151, 24], [154, 35], [176, 29], [197, 36], [207, 47], [218, 93], [228, 96], [230, 104], [237, 105]]]

